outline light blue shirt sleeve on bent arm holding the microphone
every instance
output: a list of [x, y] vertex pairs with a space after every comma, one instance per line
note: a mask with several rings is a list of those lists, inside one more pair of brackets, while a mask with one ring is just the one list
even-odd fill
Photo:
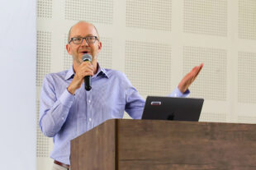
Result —
[[52, 77], [45, 76], [40, 94], [40, 130], [45, 136], [53, 137], [59, 132], [69, 115], [73, 99], [67, 89], [57, 99]]

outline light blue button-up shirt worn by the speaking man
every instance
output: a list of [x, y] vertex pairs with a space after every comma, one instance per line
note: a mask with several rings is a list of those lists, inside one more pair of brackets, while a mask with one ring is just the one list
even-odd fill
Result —
[[[53, 137], [52, 159], [69, 163], [70, 140], [112, 118], [122, 118], [124, 111], [140, 119], [145, 100], [124, 73], [98, 65], [92, 76], [92, 90], [84, 85], [72, 95], [67, 87], [73, 80], [73, 67], [45, 76], [40, 94], [40, 130]], [[169, 96], [186, 97], [176, 88]]]

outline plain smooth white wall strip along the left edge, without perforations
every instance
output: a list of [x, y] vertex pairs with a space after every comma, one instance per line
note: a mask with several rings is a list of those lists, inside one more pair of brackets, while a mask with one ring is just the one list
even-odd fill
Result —
[[36, 1], [0, 6], [1, 169], [36, 169]]

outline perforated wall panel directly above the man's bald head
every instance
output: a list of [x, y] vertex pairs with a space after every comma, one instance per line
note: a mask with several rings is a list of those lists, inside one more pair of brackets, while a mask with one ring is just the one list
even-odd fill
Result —
[[112, 24], [113, 0], [66, 0], [65, 19]]

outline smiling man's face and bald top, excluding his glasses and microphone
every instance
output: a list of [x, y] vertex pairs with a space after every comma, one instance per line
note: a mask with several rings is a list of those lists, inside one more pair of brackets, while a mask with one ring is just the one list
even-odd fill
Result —
[[[77, 25], [73, 25], [73, 28], [70, 31], [70, 39], [73, 37], [88, 37], [88, 36], [97, 36], [97, 31], [94, 26], [86, 23], [79, 22]], [[88, 53], [92, 56], [92, 62], [97, 62], [97, 54], [101, 51], [102, 43], [99, 40], [96, 40], [94, 44], [88, 44], [85, 39], [83, 39], [82, 44], [73, 44], [71, 41], [66, 45], [67, 52], [73, 56], [73, 62], [80, 64], [83, 62], [82, 57], [84, 53]]]

